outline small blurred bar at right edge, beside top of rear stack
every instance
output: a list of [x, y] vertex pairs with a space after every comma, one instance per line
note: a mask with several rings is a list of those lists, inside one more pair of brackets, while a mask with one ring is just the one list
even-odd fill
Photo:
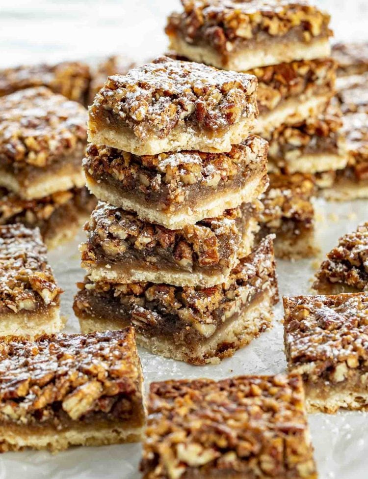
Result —
[[339, 64], [339, 77], [368, 72], [368, 43], [336, 43], [332, 56]]

